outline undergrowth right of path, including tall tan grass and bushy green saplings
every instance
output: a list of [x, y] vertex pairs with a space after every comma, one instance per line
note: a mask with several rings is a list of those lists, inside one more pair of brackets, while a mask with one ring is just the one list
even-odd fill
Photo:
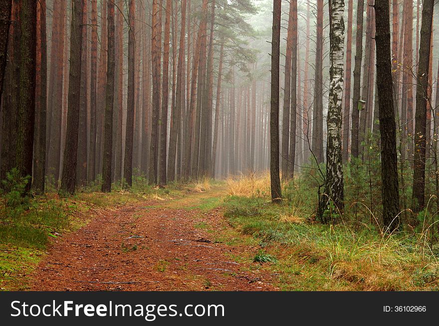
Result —
[[[354, 215], [348, 206], [344, 221], [322, 225], [314, 220], [317, 191], [307, 175], [283, 185], [280, 205], [260, 190], [269, 187], [266, 176], [227, 181], [223, 214], [242, 236], [257, 243], [259, 253], [248, 258], [271, 262], [267, 268], [279, 276], [281, 289], [439, 289], [439, 246], [431, 243], [427, 231], [431, 216], [420, 217], [424, 227], [419, 231], [402, 229], [389, 235], [370, 209], [357, 209]], [[364, 212], [369, 214], [361, 215]]]

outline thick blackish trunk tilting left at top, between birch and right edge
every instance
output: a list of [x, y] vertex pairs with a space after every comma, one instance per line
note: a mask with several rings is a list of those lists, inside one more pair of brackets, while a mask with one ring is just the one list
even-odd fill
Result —
[[381, 177], [383, 220], [389, 231], [399, 224], [398, 161], [390, 49], [390, 9], [388, 0], [375, 0], [377, 87], [380, 110]]

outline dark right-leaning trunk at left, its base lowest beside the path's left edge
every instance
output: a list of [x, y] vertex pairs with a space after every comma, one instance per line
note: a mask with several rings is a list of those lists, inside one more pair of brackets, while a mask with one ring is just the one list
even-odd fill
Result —
[[84, 0], [72, 2], [67, 130], [61, 177], [61, 191], [66, 193], [74, 193], [76, 185], [84, 2]]

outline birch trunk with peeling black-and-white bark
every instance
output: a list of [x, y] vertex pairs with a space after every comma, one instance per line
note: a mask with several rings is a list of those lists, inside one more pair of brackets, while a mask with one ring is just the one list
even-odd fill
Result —
[[[344, 1], [329, 2], [329, 104], [327, 117], [326, 183], [320, 195], [318, 218], [322, 223], [344, 212], [344, 181], [341, 144], [344, 56]], [[320, 189], [319, 189], [320, 192]], [[335, 209], [331, 212], [331, 206]]]

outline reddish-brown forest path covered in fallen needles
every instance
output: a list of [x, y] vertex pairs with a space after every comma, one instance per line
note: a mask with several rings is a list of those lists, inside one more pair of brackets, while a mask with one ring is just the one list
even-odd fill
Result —
[[[144, 201], [92, 216], [56, 239], [32, 274], [38, 291], [273, 291], [268, 271], [228, 245], [214, 186], [169, 201]], [[232, 244], [233, 241], [228, 241]], [[236, 258], [236, 259], [234, 259]], [[238, 260], [239, 262], [237, 262]]]

